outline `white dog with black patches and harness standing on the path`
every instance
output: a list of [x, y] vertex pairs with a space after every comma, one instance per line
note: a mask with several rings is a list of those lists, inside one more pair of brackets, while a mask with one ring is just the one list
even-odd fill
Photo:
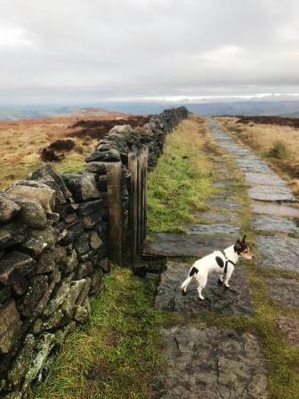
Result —
[[[211, 272], [219, 274], [221, 283], [223, 283], [225, 287], [229, 288], [230, 276], [238, 262], [238, 257], [242, 256], [246, 259], [252, 259], [253, 257], [245, 239], [246, 235], [243, 237], [243, 240], [238, 239], [235, 245], [231, 245], [222, 251], [214, 251], [213, 254], [198, 259], [190, 268], [187, 279], [182, 282], [182, 294], [186, 294], [187, 287], [193, 277], [195, 277], [198, 281], [198, 296], [200, 299], [205, 299], [205, 297], [202, 296], [201, 291], [206, 287], [207, 277]], [[225, 275], [224, 281], [223, 275]]]

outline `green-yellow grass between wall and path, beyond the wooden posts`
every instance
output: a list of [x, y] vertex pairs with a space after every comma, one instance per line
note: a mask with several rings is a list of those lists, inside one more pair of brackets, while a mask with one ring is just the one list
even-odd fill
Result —
[[166, 137], [164, 155], [149, 175], [148, 225], [152, 232], [182, 231], [213, 191], [213, 167], [204, 148], [206, 125], [196, 117]]

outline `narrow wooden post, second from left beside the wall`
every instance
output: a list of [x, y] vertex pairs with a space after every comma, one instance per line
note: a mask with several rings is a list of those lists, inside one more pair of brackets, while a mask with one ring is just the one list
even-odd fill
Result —
[[130, 229], [130, 252], [131, 261], [134, 266], [137, 254], [137, 157], [130, 153], [128, 156], [128, 169], [131, 174], [131, 191], [129, 197], [129, 229]]

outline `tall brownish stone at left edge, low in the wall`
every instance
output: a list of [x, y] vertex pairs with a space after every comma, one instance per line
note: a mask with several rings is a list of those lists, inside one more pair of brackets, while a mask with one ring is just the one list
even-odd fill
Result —
[[7, 354], [20, 336], [20, 315], [13, 299], [0, 307], [0, 354]]

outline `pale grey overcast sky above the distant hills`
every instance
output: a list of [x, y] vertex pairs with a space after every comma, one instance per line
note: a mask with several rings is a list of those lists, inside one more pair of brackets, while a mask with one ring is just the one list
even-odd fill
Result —
[[299, 93], [298, 0], [0, 0], [0, 103]]

